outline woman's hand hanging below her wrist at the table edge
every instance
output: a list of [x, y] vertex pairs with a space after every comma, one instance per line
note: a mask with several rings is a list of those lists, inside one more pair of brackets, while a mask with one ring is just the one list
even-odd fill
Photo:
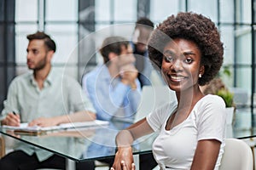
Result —
[[131, 146], [119, 148], [115, 154], [111, 170], [135, 170]]

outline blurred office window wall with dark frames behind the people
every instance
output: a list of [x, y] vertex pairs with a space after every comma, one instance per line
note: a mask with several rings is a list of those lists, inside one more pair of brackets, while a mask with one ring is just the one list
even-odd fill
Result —
[[1, 110], [9, 82], [27, 71], [27, 34], [39, 30], [51, 35], [58, 47], [53, 66], [81, 82], [84, 73], [101, 62], [96, 51], [103, 35], [117, 31], [131, 38], [140, 17], [148, 17], [157, 26], [171, 14], [193, 11], [211, 18], [218, 26], [224, 42], [224, 68], [231, 73], [222, 74], [222, 78], [239, 94], [235, 96], [237, 106], [246, 108], [253, 122], [255, 4], [256, 0], [0, 0]]

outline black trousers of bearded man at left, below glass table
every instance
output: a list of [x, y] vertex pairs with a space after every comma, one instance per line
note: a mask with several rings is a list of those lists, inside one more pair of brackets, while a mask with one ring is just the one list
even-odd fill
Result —
[[[94, 168], [94, 163], [84, 161], [81, 164], [76, 163], [76, 169], [91, 169]], [[27, 155], [21, 150], [10, 152], [3, 156], [0, 160], [0, 170], [35, 170], [38, 168], [56, 168], [66, 169], [66, 159], [62, 156], [53, 155], [45, 161], [38, 161], [36, 154]]]

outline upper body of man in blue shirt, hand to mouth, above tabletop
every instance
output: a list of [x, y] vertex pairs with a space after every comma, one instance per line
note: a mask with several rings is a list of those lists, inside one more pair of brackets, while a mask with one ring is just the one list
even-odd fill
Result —
[[104, 64], [83, 77], [83, 88], [100, 120], [132, 122], [141, 99], [130, 42], [124, 37], [107, 37], [100, 49]]

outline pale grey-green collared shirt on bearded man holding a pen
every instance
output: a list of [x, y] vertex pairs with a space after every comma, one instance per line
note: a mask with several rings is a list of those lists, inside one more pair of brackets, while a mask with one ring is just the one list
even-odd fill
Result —
[[[7, 99], [3, 104], [0, 119], [3, 120], [9, 112], [15, 111], [20, 114], [21, 122], [31, 122], [43, 116], [62, 116], [76, 111], [96, 112], [79, 82], [54, 69], [49, 72], [42, 89], [38, 88], [31, 72], [15, 77], [9, 85]], [[20, 143], [15, 149], [23, 150], [29, 155], [36, 152], [39, 161], [53, 155], [47, 150], [24, 143]]]

